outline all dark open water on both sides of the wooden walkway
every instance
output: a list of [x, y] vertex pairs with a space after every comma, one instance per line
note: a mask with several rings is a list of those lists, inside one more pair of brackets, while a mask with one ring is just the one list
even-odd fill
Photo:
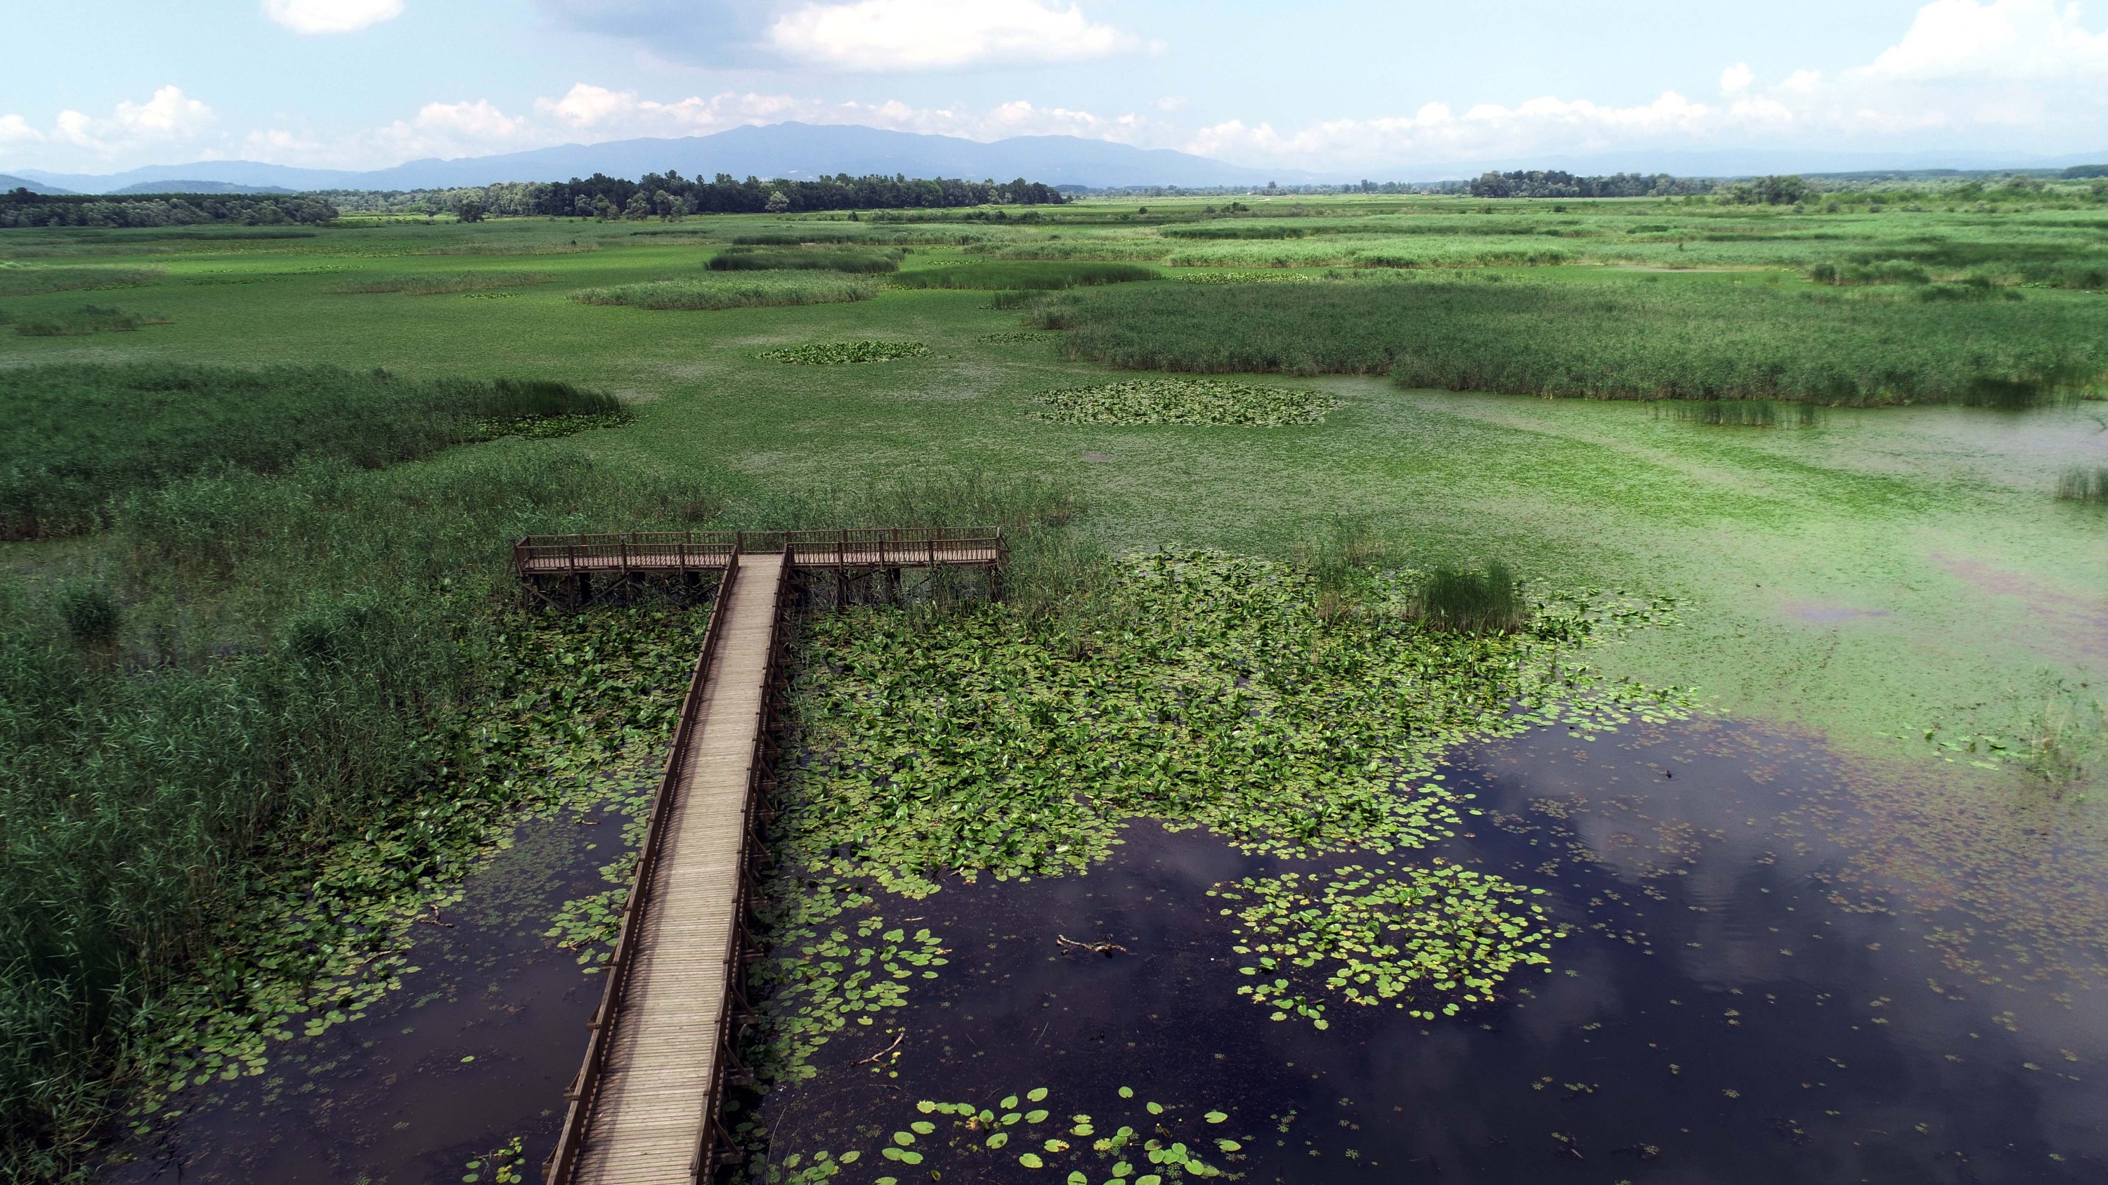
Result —
[[[1551, 974], [1518, 972], [1505, 1002], [1440, 1023], [1345, 1004], [1328, 1031], [1273, 1023], [1235, 993], [1250, 980], [1206, 890], [1370, 860], [1246, 858], [1204, 831], [1134, 824], [1084, 877], [881, 900], [887, 924], [936, 932], [951, 964], [828, 1044], [816, 1080], [769, 1096], [772, 1158], [858, 1149], [845, 1183], [1088, 1168], [1100, 1185], [1109, 1160], [1050, 1151], [1050, 1170], [1031, 1170], [1014, 1155], [1043, 1137], [1088, 1147], [1060, 1124], [1090, 1113], [1098, 1134], [1162, 1126], [1248, 1181], [2108, 1181], [2108, 1008], [2051, 970], [2102, 951], [2053, 959], [2036, 928], [1891, 907], [1832, 839], [1874, 799], [1821, 749], [1720, 721], [1547, 730], [1446, 776], [1486, 814], [1410, 858], [1543, 888], [1573, 928]], [[599, 987], [542, 932], [563, 900], [605, 888], [613, 839], [611, 822], [523, 829], [455, 928], [419, 928], [424, 970], [396, 997], [276, 1046], [266, 1077], [112, 1179], [462, 1181], [512, 1137], [538, 1179]], [[2091, 875], [2097, 894], [2108, 871]], [[875, 1155], [932, 1120], [921, 1099], [993, 1105], [1035, 1086], [1054, 1115], [1035, 1143], [951, 1149], [940, 1128], [917, 1145], [925, 1164]], [[1227, 1118], [1208, 1124], [1210, 1109]], [[1235, 1158], [1216, 1137], [1242, 1143]]]

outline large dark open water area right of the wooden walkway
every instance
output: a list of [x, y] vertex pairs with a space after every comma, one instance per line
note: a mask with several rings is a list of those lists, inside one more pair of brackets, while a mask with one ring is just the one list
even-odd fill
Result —
[[[887, 1018], [906, 1029], [898, 1077], [885, 1058], [841, 1069], [892, 1031], [831, 1048], [837, 1069], [769, 1103], [774, 1158], [868, 1158], [923, 1118], [919, 1099], [993, 1105], [1048, 1086], [1056, 1118], [1090, 1113], [1098, 1134], [1164, 1124], [1195, 1147], [1229, 1134], [1248, 1160], [1214, 1162], [1254, 1181], [2108, 1179], [2102, 997], [1960, 976], [1925, 940], [1939, 917], [1868, 902], [1823, 839], [1851, 797], [1819, 751], [1722, 723], [1539, 732], [1446, 774], [1488, 814], [1436, 854], [1549, 890], [1539, 900], [1575, 930], [1551, 974], [1520, 972], [1509, 983], [1526, 991], [1505, 1004], [1440, 1023], [1334, 1004], [1322, 1033], [1273, 1023], [1235, 995], [1246, 959], [1206, 890], [1326, 862], [1136, 824], [1086, 877], [946, 888], [896, 909], [953, 949], [946, 974]], [[1229, 1120], [1197, 1122], [1208, 1109]], [[1048, 1174], [946, 1151], [942, 1132], [921, 1145], [915, 1172], [879, 1170], [1109, 1177], [1073, 1151]]]

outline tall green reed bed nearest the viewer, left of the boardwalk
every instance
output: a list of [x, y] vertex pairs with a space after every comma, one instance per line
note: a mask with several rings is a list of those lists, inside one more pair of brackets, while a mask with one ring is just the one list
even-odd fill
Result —
[[443, 770], [514, 536], [721, 504], [548, 449], [217, 470], [133, 493], [103, 582], [0, 582], [0, 1177], [74, 1162], [257, 869], [504, 793]]

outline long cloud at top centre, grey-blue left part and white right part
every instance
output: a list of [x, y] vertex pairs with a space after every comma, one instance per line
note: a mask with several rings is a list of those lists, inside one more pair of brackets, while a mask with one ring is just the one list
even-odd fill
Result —
[[854, 72], [1086, 61], [1145, 48], [1071, 0], [542, 0], [573, 27], [723, 65]]

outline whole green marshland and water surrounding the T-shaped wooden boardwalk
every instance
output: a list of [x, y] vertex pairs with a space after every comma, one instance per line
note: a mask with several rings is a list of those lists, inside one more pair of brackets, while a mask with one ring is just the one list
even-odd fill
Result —
[[1001, 523], [729, 1179], [2097, 1177], [2097, 207], [1296, 202], [0, 236], [8, 1170], [535, 1177], [710, 609], [512, 538]]

